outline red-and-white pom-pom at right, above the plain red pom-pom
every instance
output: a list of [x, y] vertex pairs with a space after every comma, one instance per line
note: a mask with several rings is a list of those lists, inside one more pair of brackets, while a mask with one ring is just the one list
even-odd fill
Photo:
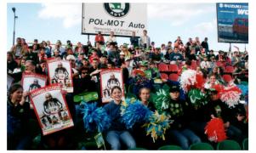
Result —
[[236, 86], [224, 88], [220, 93], [221, 101], [225, 102], [230, 108], [238, 104], [242, 91]]

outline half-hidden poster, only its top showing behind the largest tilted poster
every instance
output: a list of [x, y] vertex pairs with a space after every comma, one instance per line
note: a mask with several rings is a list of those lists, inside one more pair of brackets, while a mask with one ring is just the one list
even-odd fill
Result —
[[31, 92], [37, 88], [43, 88], [46, 86], [47, 77], [39, 75], [37, 73], [23, 73], [21, 79], [21, 85], [24, 91]]

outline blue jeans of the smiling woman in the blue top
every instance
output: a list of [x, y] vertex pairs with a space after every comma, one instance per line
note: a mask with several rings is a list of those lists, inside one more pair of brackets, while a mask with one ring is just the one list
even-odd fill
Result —
[[127, 145], [128, 149], [136, 147], [135, 140], [128, 131], [109, 131], [106, 133], [106, 141], [111, 144], [111, 150], [121, 149], [120, 140]]

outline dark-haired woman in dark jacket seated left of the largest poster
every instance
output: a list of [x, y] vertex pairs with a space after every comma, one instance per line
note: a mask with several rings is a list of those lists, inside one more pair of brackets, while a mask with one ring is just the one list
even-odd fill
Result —
[[27, 93], [23, 93], [20, 84], [13, 84], [9, 88], [7, 99], [7, 149], [26, 150], [31, 142], [29, 136], [30, 105], [25, 102]]

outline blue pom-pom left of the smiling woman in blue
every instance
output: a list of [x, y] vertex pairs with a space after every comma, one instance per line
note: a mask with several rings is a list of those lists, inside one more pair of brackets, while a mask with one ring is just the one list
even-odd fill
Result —
[[99, 133], [111, 127], [111, 118], [102, 107], [97, 107], [97, 103], [82, 103], [83, 125], [87, 132]]

